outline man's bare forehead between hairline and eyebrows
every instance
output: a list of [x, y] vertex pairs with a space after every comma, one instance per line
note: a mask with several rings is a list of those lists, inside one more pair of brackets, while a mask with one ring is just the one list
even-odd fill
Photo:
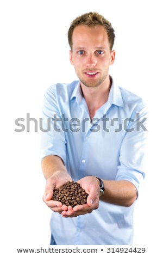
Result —
[[89, 45], [109, 47], [109, 40], [106, 29], [101, 25], [97, 25], [95, 27], [78, 25], [74, 28], [72, 34], [72, 44], [73, 48]]

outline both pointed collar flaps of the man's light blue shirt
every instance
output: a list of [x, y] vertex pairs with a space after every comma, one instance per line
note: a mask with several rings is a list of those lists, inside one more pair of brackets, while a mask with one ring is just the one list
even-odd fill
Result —
[[[112, 84], [111, 84], [107, 102], [109, 103], [109, 105], [114, 104], [114, 105], [123, 107], [124, 103], [123, 103], [120, 87], [118, 87], [114, 83], [114, 80], [112, 78], [111, 78], [111, 80], [112, 80]], [[82, 89], [80, 87], [80, 81], [77, 81], [76, 86], [74, 87], [72, 95], [70, 97], [70, 100], [72, 100], [73, 97], [76, 97], [76, 100], [78, 103], [82, 102], [82, 100], [83, 100], [83, 94], [82, 94]]]

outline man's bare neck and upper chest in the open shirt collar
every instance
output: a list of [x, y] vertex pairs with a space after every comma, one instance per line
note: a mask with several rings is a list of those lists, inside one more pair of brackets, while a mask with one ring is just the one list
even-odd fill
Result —
[[90, 118], [95, 116], [96, 111], [108, 101], [111, 82], [108, 76], [106, 80], [98, 87], [86, 87], [80, 83], [83, 96], [89, 109]]

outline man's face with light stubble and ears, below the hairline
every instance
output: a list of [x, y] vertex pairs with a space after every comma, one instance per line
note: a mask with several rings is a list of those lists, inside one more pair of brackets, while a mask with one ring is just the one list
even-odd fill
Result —
[[109, 81], [109, 66], [114, 63], [115, 51], [110, 51], [108, 35], [102, 26], [79, 25], [72, 35], [70, 62], [85, 86], [97, 87]]

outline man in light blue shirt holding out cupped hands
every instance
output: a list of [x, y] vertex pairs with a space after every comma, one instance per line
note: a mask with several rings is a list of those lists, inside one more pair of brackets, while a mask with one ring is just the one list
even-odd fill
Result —
[[[77, 17], [68, 31], [79, 81], [48, 88], [43, 103], [43, 201], [53, 211], [51, 245], [130, 245], [133, 210], [144, 174], [146, 108], [116, 86], [114, 29], [97, 13]], [[84, 205], [52, 200], [54, 188], [77, 181]]]

